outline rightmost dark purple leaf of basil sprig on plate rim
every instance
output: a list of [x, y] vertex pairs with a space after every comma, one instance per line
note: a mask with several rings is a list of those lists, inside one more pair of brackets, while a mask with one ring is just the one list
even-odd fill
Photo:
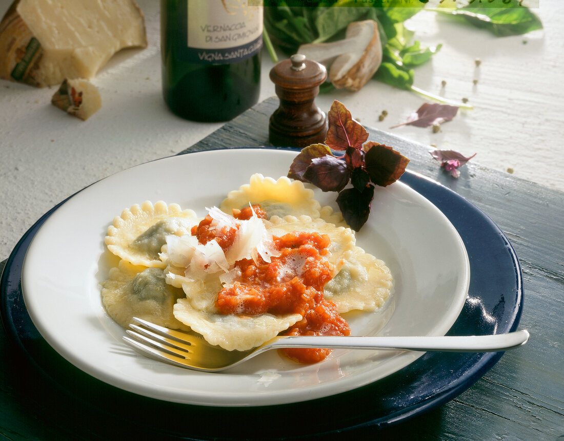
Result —
[[374, 184], [382, 187], [393, 184], [406, 171], [409, 159], [393, 148], [369, 141], [364, 149], [368, 149], [364, 157], [365, 170]]

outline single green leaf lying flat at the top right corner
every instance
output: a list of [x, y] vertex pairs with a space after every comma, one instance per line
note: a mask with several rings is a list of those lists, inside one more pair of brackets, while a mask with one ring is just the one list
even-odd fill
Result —
[[543, 24], [534, 12], [529, 8], [519, 6], [515, 1], [504, 5], [503, 8], [474, 7], [469, 5], [464, 8], [447, 9], [440, 12], [462, 16], [474, 26], [487, 29], [499, 37], [526, 34], [543, 28]]

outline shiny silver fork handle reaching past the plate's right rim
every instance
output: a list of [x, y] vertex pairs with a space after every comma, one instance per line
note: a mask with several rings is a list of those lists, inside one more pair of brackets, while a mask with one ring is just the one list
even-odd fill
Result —
[[480, 336], [418, 337], [341, 337], [289, 336], [278, 337], [268, 346], [277, 348], [344, 348], [446, 352], [499, 352], [524, 345], [529, 333], [522, 331]]

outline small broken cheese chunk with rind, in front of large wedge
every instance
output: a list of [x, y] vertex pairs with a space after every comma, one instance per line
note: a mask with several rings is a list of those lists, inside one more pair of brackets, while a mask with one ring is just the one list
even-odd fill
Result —
[[102, 107], [98, 89], [86, 79], [65, 79], [51, 103], [84, 121]]

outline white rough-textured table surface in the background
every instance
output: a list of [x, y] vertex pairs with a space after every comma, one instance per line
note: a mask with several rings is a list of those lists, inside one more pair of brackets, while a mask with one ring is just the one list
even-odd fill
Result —
[[[0, 14], [10, 3], [0, 0]], [[88, 121], [50, 104], [55, 87], [0, 80], [0, 260], [43, 213], [70, 194], [125, 168], [178, 153], [221, 126], [184, 121], [166, 109], [158, 2], [138, 3], [149, 46], [117, 54], [92, 79], [103, 107]], [[376, 81], [360, 92], [320, 95], [316, 103], [327, 111], [337, 99], [366, 126], [420, 142], [428, 150], [435, 145], [468, 156], [477, 153], [476, 163], [564, 191], [564, 2], [540, 0], [535, 12], [542, 31], [504, 38], [431, 12], [409, 21], [423, 44], [443, 43], [430, 63], [416, 68], [415, 86], [449, 99], [467, 97], [474, 106], [460, 110], [439, 133], [412, 126], [391, 129], [425, 100]], [[261, 100], [274, 95], [268, 79], [272, 65], [265, 51]], [[388, 115], [379, 122], [382, 110]], [[429, 161], [434, 161], [430, 155]]]

